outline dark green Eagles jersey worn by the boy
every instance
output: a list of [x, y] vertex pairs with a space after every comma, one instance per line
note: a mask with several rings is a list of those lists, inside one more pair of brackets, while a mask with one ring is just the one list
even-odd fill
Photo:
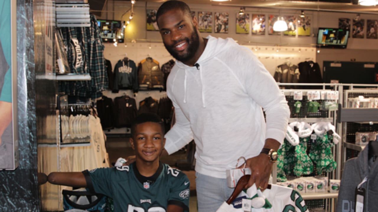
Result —
[[114, 211], [166, 212], [169, 204], [189, 211], [189, 180], [167, 164], [160, 163], [151, 177], [142, 176], [135, 163], [83, 173], [91, 192], [113, 198]]

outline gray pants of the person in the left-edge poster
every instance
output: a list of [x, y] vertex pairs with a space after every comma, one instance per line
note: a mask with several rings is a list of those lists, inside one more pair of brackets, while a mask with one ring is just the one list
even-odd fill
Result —
[[5, 129], [1, 137], [1, 140], [2, 140], [2, 143], [0, 144], [0, 169], [13, 168], [14, 147], [13, 147], [12, 122]]

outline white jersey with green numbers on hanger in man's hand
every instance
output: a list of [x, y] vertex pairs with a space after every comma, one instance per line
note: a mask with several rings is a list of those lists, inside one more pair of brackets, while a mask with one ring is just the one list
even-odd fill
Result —
[[[302, 196], [289, 187], [271, 185], [271, 189], [265, 189], [263, 195], [271, 203], [270, 208], [252, 208], [251, 212], [308, 212]], [[242, 192], [241, 196], [248, 197]], [[228, 205], [224, 202], [217, 212], [243, 212], [241, 200], [237, 198], [233, 204]]]

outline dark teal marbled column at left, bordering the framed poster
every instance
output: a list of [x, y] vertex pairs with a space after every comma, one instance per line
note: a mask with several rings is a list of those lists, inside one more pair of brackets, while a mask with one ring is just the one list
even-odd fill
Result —
[[[7, 1], [7, 0], [5, 0]], [[8, 0], [9, 2], [15, 2]], [[19, 166], [0, 172], [0, 211], [38, 211], [33, 1], [17, 0]]]

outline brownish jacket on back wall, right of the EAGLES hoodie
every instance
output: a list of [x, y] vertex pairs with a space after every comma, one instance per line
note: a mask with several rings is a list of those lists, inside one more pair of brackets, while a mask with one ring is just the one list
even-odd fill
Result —
[[142, 60], [138, 66], [139, 88], [164, 88], [164, 75], [159, 62], [150, 57]]

